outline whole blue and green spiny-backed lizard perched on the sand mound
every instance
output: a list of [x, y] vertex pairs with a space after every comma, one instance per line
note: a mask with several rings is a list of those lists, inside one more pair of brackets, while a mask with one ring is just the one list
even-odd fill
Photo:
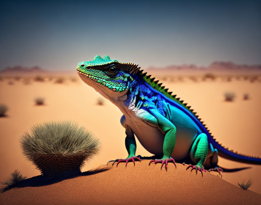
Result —
[[[200, 171], [202, 176], [208, 171], [223, 172], [219, 167], [218, 155], [249, 164], [261, 164], [261, 158], [244, 155], [221, 146], [214, 139], [207, 126], [187, 103], [168, 92], [162, 83], [143, 73], [138, 65], [111, 60], [109, 56], [95, 56], [92, 61], [82, 61], [77, 65], [77, 73], [87, 85], [94, 88], [103, 97], [116, 105], [123, 116], [121, 125], [126, 129], [126, 159], [111, 160], [117, 162], [140, 161], [136, 156], [135, 136], [142, 146], [161, 155], [154, 162], [175, 165], [175, 160], [190, 158], [192, 164], [186, 168]], [[135, 135], [135, 136], [134, 136]], [[174, 160], [175, 159], [175, 160]], [[109, 163], [108, 162], [108, 163]], [[185, 163], [183, 163], [184, 165]], [[176, 166], [176, 165], [175, 165]]]

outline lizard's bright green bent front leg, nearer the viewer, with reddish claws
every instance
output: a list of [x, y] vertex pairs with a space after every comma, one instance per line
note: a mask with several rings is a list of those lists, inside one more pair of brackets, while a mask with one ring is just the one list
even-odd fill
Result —
[[171, 158], [172, 152], [176, 144], [176, 127], [173, 125], [172, 122], [170, 122], [160, 113], [153, 112], [152, 115], [157, 119], [159, 128], [163, 133], [165, 133], [165, 137], [163, 142], [163, 158], [161, 158], [160, 160], [151, 160], [149, 162], [149, 165], [151, 164], [151, 162], [154, 162], [155, 164], [161, 163], [162, 169], [163, 165], [165, 164], [165, 169], [167, 171], [168, 162], [173, 162], [176, 167], [174, 159]]

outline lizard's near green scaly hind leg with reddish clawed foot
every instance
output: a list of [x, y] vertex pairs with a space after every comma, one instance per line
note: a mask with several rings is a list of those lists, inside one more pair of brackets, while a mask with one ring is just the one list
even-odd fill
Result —
[[207, 158], [207, 152], [208, 152], [208, 141], [207, 141], [207, 135], [205, 133], [201, 133], [200, 135], [197, 136], [197, 138], [195, 139], [191, 151], [190, 151], [190, 157], [191, 160], [196, 164], [196, 165], [188, 165], [188, 167], [186, 168], [189, 169], [190, 167], [192, 167], [191, 171], [193, 169], [196, 170], [196, 174], [197, 174], [197, 170], [201, 172], [202, 176], [203, 176], [203, 172], [206, 172], [206, 170], [204, 169], [204, 162]]

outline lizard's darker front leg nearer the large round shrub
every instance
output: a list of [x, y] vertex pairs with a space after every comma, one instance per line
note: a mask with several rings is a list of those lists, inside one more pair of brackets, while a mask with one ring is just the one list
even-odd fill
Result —
[[[109, 162], [113, 162], [112, 166], [114, 165], [115, 162], [117, 162], [117, 167], [120, 162], [126, 162], [126, 167], [127, 167], [127, 164], [130, 161], [132, 161], [135, 166], [135, 160], [141, 161], [140, 158], [135, 156], [137, 146], [136, 146], [136, 141], [135, 141], [133, 131], [131, 130], [131, 128], [128, 125], [125, 125], [124, 127], [126, 128], [125, 146], [126, 146], [126, 149], [127, 149], [129, 155], [126, 159], [117, 159], [117, 160], [109, 161]], [[107, 163], [107, 165], [108, 165], [108, 163]]]

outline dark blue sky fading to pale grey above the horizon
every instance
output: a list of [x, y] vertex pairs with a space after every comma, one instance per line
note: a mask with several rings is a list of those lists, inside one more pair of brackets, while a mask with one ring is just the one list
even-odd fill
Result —
[[1, 1], [0, 69], [261, 64], [261, 1]]

